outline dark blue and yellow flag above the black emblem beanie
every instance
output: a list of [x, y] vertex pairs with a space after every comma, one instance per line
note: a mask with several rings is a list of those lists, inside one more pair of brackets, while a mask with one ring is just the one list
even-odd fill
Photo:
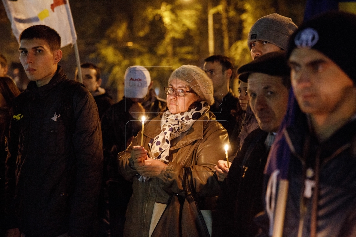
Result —
[[356, 14], [356, 0], [307, 0], [304, 21], [329, 10], [348, 11]]

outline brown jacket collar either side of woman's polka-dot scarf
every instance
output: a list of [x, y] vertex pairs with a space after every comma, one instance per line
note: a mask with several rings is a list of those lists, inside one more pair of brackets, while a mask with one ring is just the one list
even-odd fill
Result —
[[[158, 115], [153, 118], [144, 129], [144, 135], [147, 137], [154, 139], [158, 134], [161, 133], [161, 118], [162, 115]], [[203, 139], [203, 130], [207, 125], [209, 120], [215, 120], [215, 116], [212, 112], [207, 111], [196, 120], [193, 126], [186, 132], [183, 132], [179, 137], [176, 137], [172, 141], [171, 150], [178, 149], [180, 147], [184, 147], [195, 140]]]

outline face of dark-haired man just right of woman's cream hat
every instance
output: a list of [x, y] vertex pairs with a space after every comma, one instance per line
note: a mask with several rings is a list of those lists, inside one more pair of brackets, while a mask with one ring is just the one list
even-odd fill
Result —
[[214, 89], [222, 87], [226, 83], [226, 80], [228, 80], [226, 78], [227, 70], [223, 73], [223, 66], [218, 61], [205, 62], [204, 71], [212, 80]]

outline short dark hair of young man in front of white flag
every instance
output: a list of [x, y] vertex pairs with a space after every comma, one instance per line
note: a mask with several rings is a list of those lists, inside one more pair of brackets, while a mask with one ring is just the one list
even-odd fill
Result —
[[26, 28], [20, 34], [21, 40], [32, 40], [34, 38], [45, 40], [51, 51], [60, 49], [61, 37], [53, 28], [45, 25], [34, 25]]

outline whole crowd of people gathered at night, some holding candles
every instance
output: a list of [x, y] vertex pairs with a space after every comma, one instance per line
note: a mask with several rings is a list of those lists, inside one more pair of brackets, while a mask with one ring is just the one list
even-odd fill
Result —
[[182, 65], [165, 99], [131, 66], [114, 103], [96, 65], [67, 78], [54, 29], [25, 29], [23, 92], [0, 54], [0, 236], [356, 236], [355, 38], [352, 13], [270, 14], [250, 63]]

